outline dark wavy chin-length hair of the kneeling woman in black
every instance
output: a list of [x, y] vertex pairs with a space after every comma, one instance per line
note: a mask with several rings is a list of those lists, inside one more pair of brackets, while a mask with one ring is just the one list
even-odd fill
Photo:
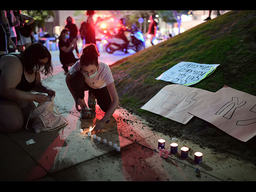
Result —
[[44, 65], [44, 71], [42, 74], [49, 76], [52, 75], [52, 56], [49, 50], [41, 43], [33, 43], [28, 46], [23, 52], [20, 52], [22, 63], [28, 73], [33, 73], [33, 69], [40, 70], [40, 59], [48, 58], [47, 63]]

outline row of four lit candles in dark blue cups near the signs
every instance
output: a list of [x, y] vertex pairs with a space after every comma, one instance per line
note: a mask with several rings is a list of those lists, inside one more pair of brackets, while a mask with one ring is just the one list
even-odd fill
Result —
[[[158, 140], [158, 149], [164, 149], [165, 147], [165, 140], [164, 139], [159, 139]], [[182, 158], [187, 158], [188, 157], [188, 150], [189, 148], [187, 147], [182, 147], [180, 148], [180, 156]], [[170, 152], [172, 154], [176, 154], [178, 152], [178, 144], [177, 143], [171, 143], [170, 144]], [[202, 163], [202, 158], [203, 154], [201, 152], [195, 152], [194, 153], [194, 162], [195, 163]]]

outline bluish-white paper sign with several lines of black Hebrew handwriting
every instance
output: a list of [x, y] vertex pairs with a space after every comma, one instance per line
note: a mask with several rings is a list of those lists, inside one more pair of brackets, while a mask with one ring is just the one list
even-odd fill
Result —
[[212, 74], [219, 65], [220, 64], [200, 64], [182, 61], [162, 73], [156, 80], [190, 86]]

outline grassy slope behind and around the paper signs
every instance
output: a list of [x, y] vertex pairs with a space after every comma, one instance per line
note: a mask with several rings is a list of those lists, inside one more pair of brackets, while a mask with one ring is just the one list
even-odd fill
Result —
[[170, 84], [155, 78], [181, 61], [220, 64], [190, 87], [216, 92], [227, 85], [256, 96], [256, 11], [228, 12], [111, 66], [121, 105], [160, 122], [158, 131], [170, 136], [194, 134], [205, 140], [214, 134], [223, 137], [218, 128], [198, 118], [185, 126], [140, 109]]

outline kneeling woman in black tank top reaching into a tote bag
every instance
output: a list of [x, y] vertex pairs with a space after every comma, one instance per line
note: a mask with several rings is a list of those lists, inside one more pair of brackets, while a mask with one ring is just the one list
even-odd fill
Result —
[[[42, 103], [47, 93], [55, 92], [41, 83], [40, 72], [49, 76], [53, 67], [51, 54], [45, 46], [35, 43], [24, 52], [0, 57], [0, 132], [20, 130], [29, 112], [36, 108], [34, 102]], [[38, 92], [32, 94], [30, 91]], [[34, 102], [33, 102], [34, 101]]]

